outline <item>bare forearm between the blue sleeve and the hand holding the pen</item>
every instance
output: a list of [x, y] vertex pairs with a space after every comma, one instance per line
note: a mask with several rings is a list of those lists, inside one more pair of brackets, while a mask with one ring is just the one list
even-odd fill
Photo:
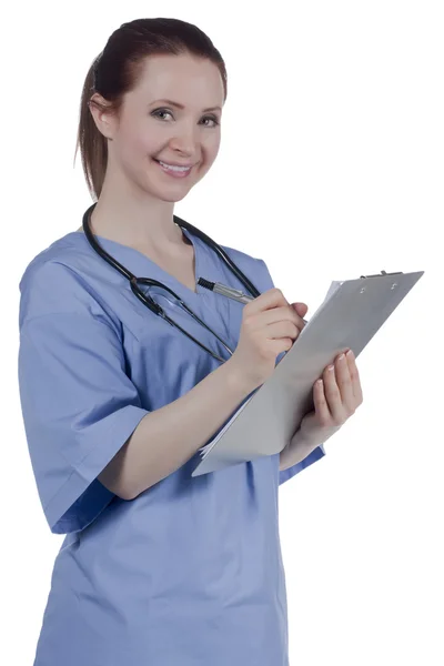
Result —
[[226, 361], [180, 398], [147, 414], [99, 481], [125, 500], [137, 497], [186, 463], [251, 391]]

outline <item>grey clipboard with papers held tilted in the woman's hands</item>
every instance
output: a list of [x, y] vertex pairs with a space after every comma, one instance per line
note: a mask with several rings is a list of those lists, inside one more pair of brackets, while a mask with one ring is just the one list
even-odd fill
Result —
[[192, 476], [280, 453], [314, 408], [313, 385], [326, 365], [346, 349], [357, 357], [423, 274], [381, 271], [332, 282], [273, 374], [199, 450]]

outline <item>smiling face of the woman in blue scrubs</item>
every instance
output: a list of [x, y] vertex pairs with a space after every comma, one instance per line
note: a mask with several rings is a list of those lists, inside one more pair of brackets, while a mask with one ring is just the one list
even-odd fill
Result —
[[[112, 139], [113, 184], [123, 178], [163, 201], [183, 199], [218, 155], [223, 94], [220, 71], [209, 60], [147, 58], [138, 87], [124, 95], [119, 119], [110, 117], [103, 132]], [[191, 169], [178, 174], [159, 160]]]

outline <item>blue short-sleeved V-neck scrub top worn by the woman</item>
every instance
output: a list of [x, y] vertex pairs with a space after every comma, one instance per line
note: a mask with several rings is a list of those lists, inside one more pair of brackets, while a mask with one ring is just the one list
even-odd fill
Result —
[[[244, 289], [203, 241], [195, 275]], [[138, 276], [173, 289], [235, 350], [243, 305], [194, 293], [141, 252], [98, 236]], [[223, 246], [262, 293], [265, 263]], [[97, 476], [141, 418], [220, 363], [131, 292], [82, 231], [38, 254], [20, 282], [19, 386], [26, 435], [56, 558], [34, 666], [287, 666], [279, 454], [192, 477], [200, 455], [132, 501]], [[224, 359], [178, 306], [167, 312]], [[147, 442], [150, 446], [150, 442]]]

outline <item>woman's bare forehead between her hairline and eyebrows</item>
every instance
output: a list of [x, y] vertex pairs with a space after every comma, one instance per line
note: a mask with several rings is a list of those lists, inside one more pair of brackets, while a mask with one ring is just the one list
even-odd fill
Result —
[[150, 103], [167, 98], [190, 107], [223, 104], [223, 82], [218, 65], [193, 56], [150, 56], [141, 70], [134, 97]]

